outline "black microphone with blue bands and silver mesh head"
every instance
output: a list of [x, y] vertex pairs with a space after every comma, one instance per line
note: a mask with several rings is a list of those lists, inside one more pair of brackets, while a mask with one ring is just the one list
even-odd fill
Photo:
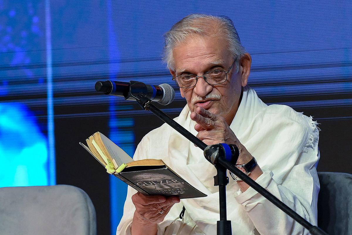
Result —
[[175, 98], [174, 88], [167, 83], [154, 86], [137, 81], [118, 82], [108, 80], [96, 82], [95, 90], [106, 95], [124, 97], [126, 100], [136, 100], [135, 97], [138, 94], [143, 94], [146, 98], [161, 105], [168, 105]]

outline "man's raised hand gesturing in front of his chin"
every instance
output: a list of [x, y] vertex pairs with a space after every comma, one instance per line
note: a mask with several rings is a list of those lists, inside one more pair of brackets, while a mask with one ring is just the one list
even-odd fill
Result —
[[236, 135], [230, 129], [225, 118], [211, 113], [201, 107], [197, 107], [195, 112], [191, 113], [191, 119], [197, 124], [194, 129], [198, 131], [197, 138], [207, 145], [218, 143], [235, 144], [240, 152], [237, 164], [247, 163], [252, 159], [252, 155], [240, 143]]

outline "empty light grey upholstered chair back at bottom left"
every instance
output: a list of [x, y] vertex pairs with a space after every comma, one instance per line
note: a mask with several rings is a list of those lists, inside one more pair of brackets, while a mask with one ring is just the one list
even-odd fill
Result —
[[87, 193], [70, 185], [0, 188], [2, 235], [96, 235]]

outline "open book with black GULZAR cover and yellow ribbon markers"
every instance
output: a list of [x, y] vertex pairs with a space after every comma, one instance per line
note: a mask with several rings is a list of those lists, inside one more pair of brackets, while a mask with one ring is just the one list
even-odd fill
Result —
[[206, 197], [187, 181], [177, 175], [162, 160], [142, 159], [133, 161], [124, 150], [100, 132], [94, 133], [81, 143], [109, 174], [145, 195], [175, 195], [182, 198]]

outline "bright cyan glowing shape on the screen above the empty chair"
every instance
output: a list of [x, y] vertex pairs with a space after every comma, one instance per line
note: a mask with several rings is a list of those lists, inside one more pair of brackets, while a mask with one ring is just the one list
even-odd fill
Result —
[[27, 107], [0, 105], [0, 186], [48, 185], [47, 139]]

